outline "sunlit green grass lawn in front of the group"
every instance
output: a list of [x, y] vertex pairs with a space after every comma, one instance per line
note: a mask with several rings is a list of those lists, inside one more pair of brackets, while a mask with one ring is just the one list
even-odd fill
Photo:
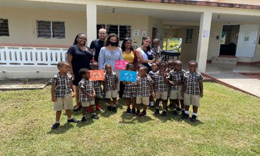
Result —
[[[260, 98], [204, 83], [196, 123], [155, 116], [153, 109], [144, 118], [127, 115], [119, 102], [117, 113], [105, 111], [86, 123], [66, 123], [63, 112], [61, 126], [51, 130], [50, 86], [0, 91], [0, 155], [260, 154]], [[81, 119], [80, 112], [73, 116]]]

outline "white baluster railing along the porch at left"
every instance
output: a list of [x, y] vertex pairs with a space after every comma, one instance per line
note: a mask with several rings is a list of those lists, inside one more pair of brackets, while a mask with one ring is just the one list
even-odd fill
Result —
[[67, 61], [66, 48], [0, 46], [0, 66], [55, 66]]

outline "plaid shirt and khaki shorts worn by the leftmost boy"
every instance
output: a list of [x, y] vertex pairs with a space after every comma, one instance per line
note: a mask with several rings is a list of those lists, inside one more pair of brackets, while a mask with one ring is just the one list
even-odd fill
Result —
[[70, 74], [62, 76], [60, 73], [57, 73], [51, 78], [50, 83], [56, 84], [54, 92], [56, 102], [53, 103], [54, 111], [61, 111], [63, 108], [64, 110], [73, 109], [71, 81], [72, 76]]

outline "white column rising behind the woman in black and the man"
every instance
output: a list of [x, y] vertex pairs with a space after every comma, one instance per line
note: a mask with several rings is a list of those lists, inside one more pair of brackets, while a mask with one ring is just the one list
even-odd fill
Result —
[[87, 3], [87, 46], [96, 39], [96, 4], [94, 1]]

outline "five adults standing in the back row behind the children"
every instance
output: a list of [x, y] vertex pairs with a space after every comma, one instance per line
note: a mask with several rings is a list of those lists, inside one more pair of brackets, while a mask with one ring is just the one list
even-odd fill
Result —
[[[96, 61], [99, 64], [99, 69], [104, 69], [105, 64], [111, 64], [114, 68], [115, 60], [128, 60], [135, 67], [142, 63], [151, 69], [149, 63], [153, 62], [151, 52], [151, 38], [143, 38], [142, 46], [134, 50], [131, 38], [125, 38], [119, 47], [119, 38], [116, 34], [109, 34], [105, 29], [99, 29], [98, 39], [93, 40], [90, 47], [86, 46], [86, 34], [80, 33], [75, 37], [73, 45], [67, 51], [67, 61], [70, 64], [70, 74], [73, 77], [73, 85], [76, 88], [76, 106], [74, 111], [81, 108], [79, 102], [79, 87], [78, 83], [82, 79], [79, 75], [81, 68], [90, 69], [90, 63]], [[113, 70], [119, 76], [119, 71]], [[122, 97], [124, 85], [120, 83], [119, 97]]]

